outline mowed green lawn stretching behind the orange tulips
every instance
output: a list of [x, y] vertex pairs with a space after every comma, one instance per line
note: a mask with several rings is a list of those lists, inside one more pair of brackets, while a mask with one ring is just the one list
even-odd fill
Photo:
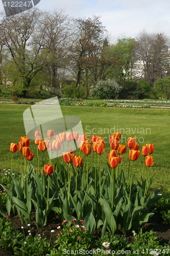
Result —
[[[0, 170], [11, 167], [11, 142], [18, 142], [20, 136], [25, 136], [23, 112], [29, 105], [1, 104], [0, 105]], [[140, 144], [139, 150], [145, 143], [154, 143], [154, 166], [150, 168], [150, 175], [154, 174], [152, 188], [162, 185], [163, 190], [170, 191], [170, 110], [165, 109], [131, 109], [131, 108], [104, 108], [86, 106], [61, 106], [63, 115], [78, 116], [81, 118], [83, 131], [90, 138], [92, 134], [104, 137], [106, 142], [105, 153], [102, 155], [102, 165], [107, 165], [107, 153], [110, 150], [109, 137], [114, 132], [122, 133], [121, 143], [126, 144], [128, 137], [136, 137]], [[32, 164], [37, 167], [36, 145], [31, 141], [31, 151], [35, 154]], [[123, 157], [122, 168], [125, 173], [128, 169], [128, 152]], [[79, 151], [76, 152], [79, 154]], [[92, 162], [92, 154], [89, 163]], [[89, 166], [90, 166], [89, 164]], [[136, 179], [142, 174], [143, 157], [134, 162]], [[14, 169], [20, 170], [20, 153], [14, 154]]]

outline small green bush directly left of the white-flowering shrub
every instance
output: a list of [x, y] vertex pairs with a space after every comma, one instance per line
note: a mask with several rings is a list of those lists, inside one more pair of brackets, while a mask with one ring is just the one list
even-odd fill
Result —
[[63, 84], [62, 91], [64, 93], [64, 97], [66, 98], [83, 98], [85, 95], [84, 87], [80, 84], [78, 86], [72, 82], [69, 86], [67, 84]]

